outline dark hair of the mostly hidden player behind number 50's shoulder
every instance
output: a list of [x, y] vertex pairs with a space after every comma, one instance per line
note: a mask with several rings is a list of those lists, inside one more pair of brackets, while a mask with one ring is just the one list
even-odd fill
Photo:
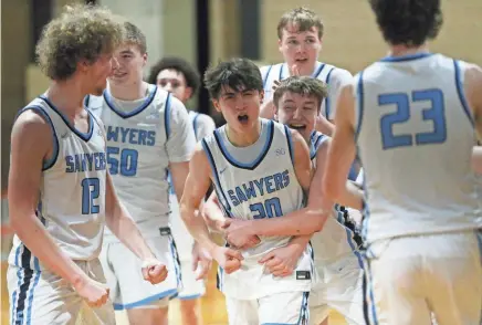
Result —
[[149, 76], [147, 77], [147, 82], [149, 84], [156, 84], [157, 82], [157, 75], [163, 70], [176, 70], [179, 73], [182, 73], [186, 80], [186, 85], [190, 88], [192, 88], [192, 94], [195, 94], [199, 85], [201, 83], [199, 73], [193, 67], [192, 64], [184, 60], [182, 57], [178, 56], [166, 56], [163, 57], [160, 61], [156, 63], [150, 69]]

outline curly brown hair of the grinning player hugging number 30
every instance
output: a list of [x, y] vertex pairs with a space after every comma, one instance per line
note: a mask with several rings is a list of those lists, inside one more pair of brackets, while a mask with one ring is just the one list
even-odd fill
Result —
[[318, 111], [323, 99], [328, 96], [328, 88], [321, 80], [303, 75], [293, 75], [283, 80], [273, 94], [273, 104], [277, 108], [277, 104], [285, 93], [295, 93], [302, 96], [314, 96], [318, 101]]

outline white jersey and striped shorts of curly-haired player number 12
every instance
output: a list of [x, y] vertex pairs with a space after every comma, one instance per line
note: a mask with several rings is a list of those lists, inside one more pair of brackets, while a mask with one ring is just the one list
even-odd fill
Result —
[[[34, 111], [52, 129], [53, 155], [43, 162], [36, 216], [60, 249], [91, 279], [106, 283], [98, 261], [105, 223], [106, 153], [99, 122], [88, 113], [88, 132], [75, 129], [43, 95]], [[10, 324], [115, 324], [112, 302], [91, 308], [72, 284], [46, 269], [14, 235], [7, 283]], [[88, 311], [88, 313], [86, 313]]]

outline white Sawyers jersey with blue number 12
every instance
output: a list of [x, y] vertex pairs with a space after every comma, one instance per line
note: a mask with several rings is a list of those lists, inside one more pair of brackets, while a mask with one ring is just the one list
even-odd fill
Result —
[[[43, 95], [22, 112], [27, 109], [40, 114], [53, 133], [53, 156], [43, 165], [36, 216], [67, 256], [95, 259], [101, 252], [105, 223], [106, 153], [102, 126], [88, 113], [90, 129], [81, 133]], [[42, 269], [17, 235], [9, 262]]]

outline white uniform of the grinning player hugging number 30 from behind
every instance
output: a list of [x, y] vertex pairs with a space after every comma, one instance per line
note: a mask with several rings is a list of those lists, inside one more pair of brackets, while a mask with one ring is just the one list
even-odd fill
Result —
[[[313, 132], [310, 139], [311, 159], [316, 168], [316, 153], [328, 137]], [[333, 210], [313, 245], [316, 283], [310, 293], [310, 323], [321, 324], [331, 310], [342, 314], [349, 325], [364, 325], [363, 265], [353, 231], [344, 224], [343, 211]]]

